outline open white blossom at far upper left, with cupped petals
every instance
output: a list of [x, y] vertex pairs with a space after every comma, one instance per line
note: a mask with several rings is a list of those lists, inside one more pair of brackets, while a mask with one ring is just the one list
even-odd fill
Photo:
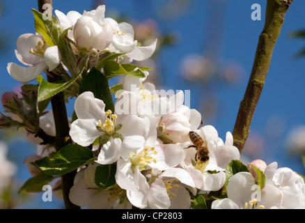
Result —
[[8, 73], [19, 82], [30, 82], [46, 68], [54, 70], [61, 63], [61, 53], [58, 47], [49, 47], [42, 36], [31, 33], [22, 34], [17, 39], [16, 45], [17, 59], [29, 66], [23, 67], [17, 63], [8, 63]]

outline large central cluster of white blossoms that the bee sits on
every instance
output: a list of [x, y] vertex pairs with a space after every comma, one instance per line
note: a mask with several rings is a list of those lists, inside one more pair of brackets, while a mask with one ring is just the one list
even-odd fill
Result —
[[[73, 203], [89, 208], [190, 208], [191, 194], [220, 190], [226, 165], [240, 158], [230, 132], [224, 143], [211, 125], [198, 128], [201, 114], [183, 105], [182, 91], [159, 97], [153, 84], [142, 81], [123, 79], [114, 114], [105, 112], [104, 102], [91, 92], [75, 101], [78, 119], [70, 136], [81, 146], [93, 144], [98, 155], [78, 172], [70, 191]], [[186, 148], [192, 144], [190, 131], [205, 135], [210, 151], [205, 164], [196, 162], [196, 148]], [[106, 190], [97, 190], [92, 180], [99, 164], [116, 164], [116, 184]]]

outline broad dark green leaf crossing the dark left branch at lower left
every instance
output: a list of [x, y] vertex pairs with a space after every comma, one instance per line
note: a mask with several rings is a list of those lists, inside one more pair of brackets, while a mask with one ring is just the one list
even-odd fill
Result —
[[49, 176], [61, 176], [93, 162], [92, 151], [84, 146], [69, 144], [61, 148], [54, 157], [35, 160], [36, 166]]

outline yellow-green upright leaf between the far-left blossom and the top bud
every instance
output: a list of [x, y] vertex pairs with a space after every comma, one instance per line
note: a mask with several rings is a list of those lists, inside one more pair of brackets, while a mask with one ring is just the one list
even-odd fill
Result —
[[35, 22], [36, 33], [40, 33], [45, 38], [50, 47], [57, 45], [58, 40], [63, 33], [59, 22], [54, 15], [45, 15], [32, 8]]

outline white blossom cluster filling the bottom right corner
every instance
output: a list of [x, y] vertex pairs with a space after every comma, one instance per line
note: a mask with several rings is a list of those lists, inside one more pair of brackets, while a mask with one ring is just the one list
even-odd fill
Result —
[[[258, 174], [252, 165], [265, 176], [262, 187], [256, 185]], [[253, 160], [250, 173], [241, 171], [230, 178], [228, 198], [213, 201], [212, 209], [305, 208], [304, 179], [292, 169], [277, 166], [277, 162], [267, 165], [263, 160]]]

